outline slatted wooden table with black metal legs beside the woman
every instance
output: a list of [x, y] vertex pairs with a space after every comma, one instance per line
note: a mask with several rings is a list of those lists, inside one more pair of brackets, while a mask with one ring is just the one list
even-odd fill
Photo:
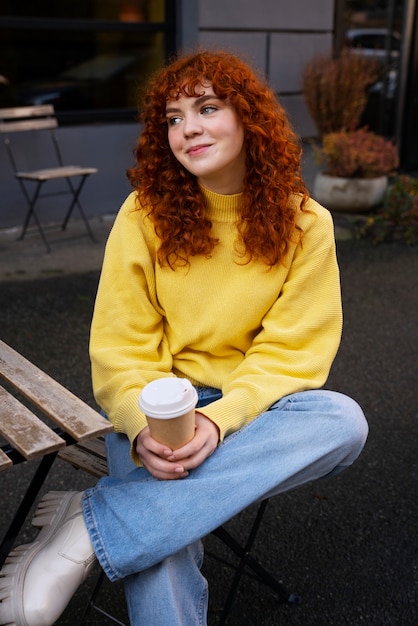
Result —
[[[111, 423], [0, 340], [0, 471], [40, 461], [0, 543], [0, 567], [22, 527], [56, 456], [111, 432]], [[100, 441], [100, 440], [98, 440]], [[93, 444], [92, 444], [93, 445]], [[104, 444], [103, 446], [104, 458]], [[106, 472], [106, 467], [103, 467]], [[96, 474], [97, 475], [97, 474]]]

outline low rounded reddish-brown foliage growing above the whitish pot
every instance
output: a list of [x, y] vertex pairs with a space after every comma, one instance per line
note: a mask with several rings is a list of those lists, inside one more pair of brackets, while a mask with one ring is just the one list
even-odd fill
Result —
[[326, 134], [322, 146], [314, 146], [314, 151], [316, 161], [330, 176], [375, 178], [391, 174], [399, 166], [397, 147], [367, 128]]

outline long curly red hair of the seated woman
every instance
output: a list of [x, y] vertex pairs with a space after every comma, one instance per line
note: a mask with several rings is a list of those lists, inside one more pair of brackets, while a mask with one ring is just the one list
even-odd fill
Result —
[[[237, 224], [246, 259], [268, 266], [282, 262], [289, 244], [301, 237], [296, 214], [307, 190], [300, 175], [301, 148], [286, 113], [266, 81], [227, 52], [180, 56], [149, 81], [140, 120], [143, 130], [127, 172], [161, 240], [158, 259], [174, 267], [194, 255], [210, 256], [217, 240], [197, 179], [173, 156], [168, 143], [166, 103], [197, 96], [202, 83], [235, 108], [244, 126], [246, 176]], [[300, 195], [299, 207], [290, 202]]]

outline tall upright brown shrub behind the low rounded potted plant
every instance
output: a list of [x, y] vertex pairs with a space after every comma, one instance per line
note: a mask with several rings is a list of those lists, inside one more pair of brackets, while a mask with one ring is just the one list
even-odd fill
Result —
[[379, 64], [343, 49], [341, 55], [319, 55], [303, 74], [306, 106], [320, 136], [358, 127], [367, 103], [367, 87], [376, 82]]

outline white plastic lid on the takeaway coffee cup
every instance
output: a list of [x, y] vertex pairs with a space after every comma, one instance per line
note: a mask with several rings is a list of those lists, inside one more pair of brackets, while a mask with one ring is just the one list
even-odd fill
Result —
[[142, 390], [139, 408], [149, 417], [171, 419], [193, 409], [197, 400], [197, 391], [187, 378], [158, 378]]

